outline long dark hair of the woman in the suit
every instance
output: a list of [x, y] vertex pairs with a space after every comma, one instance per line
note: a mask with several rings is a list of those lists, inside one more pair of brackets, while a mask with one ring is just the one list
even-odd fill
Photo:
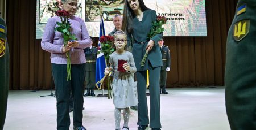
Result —
[[[139, 7], [141, 8], [141, 11], [144, 12], [145, 10], [148, 10], [149, 8], [144, 4], [143, 0], [137, 0], [139, 1]], [[131, 10], [128, 0], [125, 0], [125, 5], [123, 7], [123, 21], [122, 21], [122, 30], [130, 33], [133, 30], [133, 18], [135, 17], [135, 14], [133, 10]]]

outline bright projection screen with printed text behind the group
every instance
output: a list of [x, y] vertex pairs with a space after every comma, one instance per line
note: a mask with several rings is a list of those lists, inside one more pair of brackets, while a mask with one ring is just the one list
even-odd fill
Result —
[[[79, 0], [76, 15], [84, 19], [90, 36], [98, 37], [100, 15], [108, 34], [114, 28], [114, 15], [123, 14], [123, 3], [124, 0]], [[207, 36], [204, 0], [144, 0], [144, 3], [167, 18], [164, 36]], [[36, 39], [42, 38], [47, 20], [57, 10], [60, 10], [57, 0], [37, 0]]]

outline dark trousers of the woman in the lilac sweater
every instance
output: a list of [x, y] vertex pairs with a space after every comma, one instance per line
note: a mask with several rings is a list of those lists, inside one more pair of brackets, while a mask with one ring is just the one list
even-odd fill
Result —
[[82, 106], [84, 104], [85, 64], [71, 64], [71, 80], [67, 81], [67, 64], [52, 64], [52, 75], [57, 97], [57, 129], [68, 130], [69, 99], [73, 98], [73, 125], [82, 126]]

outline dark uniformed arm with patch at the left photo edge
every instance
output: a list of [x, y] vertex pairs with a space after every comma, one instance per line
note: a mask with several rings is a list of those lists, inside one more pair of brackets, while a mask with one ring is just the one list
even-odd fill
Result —
[[6, 38], [6, 23], [0, 18], [0, 129], [5, 124], [9, 90], [9, 47]]

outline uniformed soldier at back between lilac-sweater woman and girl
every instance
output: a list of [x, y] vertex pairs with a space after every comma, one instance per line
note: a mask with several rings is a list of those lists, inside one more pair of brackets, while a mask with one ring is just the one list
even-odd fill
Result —
[[97, 47], [92, 46], [93, 38], [90, 47], [84, 49], [84, 54], [86, 58], [85, 63], [85, 82], [86, 82], [86, 90], [87, 92], [84, 96], [95, 96], [94, 88], [95, 88], [95, 72], [96, 72], [96, 59], [97, 59]]

